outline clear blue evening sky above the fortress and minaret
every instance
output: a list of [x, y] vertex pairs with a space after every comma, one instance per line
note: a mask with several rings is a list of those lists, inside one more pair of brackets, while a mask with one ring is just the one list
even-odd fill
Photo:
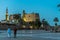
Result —
[[22, 10], [26, 10], [27, 13], [38, 12], [41, 20], [45, 18], [50, 25], [54, 25], [54, 17], [60, 20], [57, 8], [59, 3], [60, 0], [0, 0], [0, 20], [5, 19], [5, 10], [8, 7], [9, 15], [18, 12], [22, 14]]

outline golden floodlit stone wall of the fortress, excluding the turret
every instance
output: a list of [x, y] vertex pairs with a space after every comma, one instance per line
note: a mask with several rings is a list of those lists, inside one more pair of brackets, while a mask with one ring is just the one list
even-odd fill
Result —
[[25, 22], [36, 21], [37, 19], [39, 20], [39, 14], [25, 14], [25, 17], [23, 18]]

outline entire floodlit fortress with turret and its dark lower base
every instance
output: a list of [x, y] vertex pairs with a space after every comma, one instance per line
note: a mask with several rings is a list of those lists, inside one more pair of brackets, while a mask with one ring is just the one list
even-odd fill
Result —
[[23, 19], [23, 28], [31, 28], [31, 29], [38, 28], [37, 25], [39, 25], [38, 22], [40, 22], [39, 13], [34, 12], [26, 13], [25, 10], [23, 10], [22, 19]]

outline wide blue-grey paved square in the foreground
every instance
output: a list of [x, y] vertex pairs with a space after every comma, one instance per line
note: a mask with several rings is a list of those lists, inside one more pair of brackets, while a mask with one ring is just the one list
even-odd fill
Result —
[[13, 32], [11, 38], [7, 36], [7, 31], [0, 31], [0, 40], [60, 40], [60, 33], [47, 33], [47, 32], [35, 32], [31, 31], [18, 31], [17, 38], [13, 37]]

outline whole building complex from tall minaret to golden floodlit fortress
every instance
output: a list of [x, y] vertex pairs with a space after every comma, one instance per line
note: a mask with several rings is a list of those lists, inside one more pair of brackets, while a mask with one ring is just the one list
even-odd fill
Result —
[[40, 26], [40, 17], [39, 13], [26, 13], [25, 10], [23, 10], [21, 14], [12, 14], [8, 15], [8, 8], [6, 8], [6, 15], [5, 20], [1, 21], [1, 27], [3, 29], [6, 29], [8, 27], [14, 28], [16, 26], [18, 29], [38, 29]]

